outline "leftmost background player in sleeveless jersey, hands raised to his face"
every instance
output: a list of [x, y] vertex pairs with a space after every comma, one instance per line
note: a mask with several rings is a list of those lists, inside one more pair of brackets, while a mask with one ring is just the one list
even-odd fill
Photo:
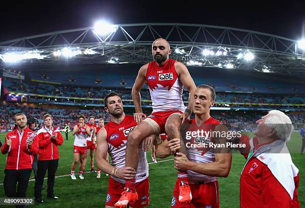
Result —
[[74, 148], [73, 148], [73, 156], [74, 156], [74, 161], [72, 162], [72, 167], [71, 167], [71, 178], [72, 180], [76, 180], [76, 177], [74, 175], [75, 171], [75, 166], [80, 161], [79, 163], [79, 178], [84, 179], [83, 176], [83, 164], [84, 164], [84, 159], [85, 155], [87, 152], [87, 140], [86, 138], [91, 135], [90, 133], [90, 127], [88, 127], [85, 124], [85, 119], [86, 117], [84, 115], [79, 115], [78, 116], [78, 125], [75, 125], [72, 131], [72, 135], [75, 135], [74, 139]]

